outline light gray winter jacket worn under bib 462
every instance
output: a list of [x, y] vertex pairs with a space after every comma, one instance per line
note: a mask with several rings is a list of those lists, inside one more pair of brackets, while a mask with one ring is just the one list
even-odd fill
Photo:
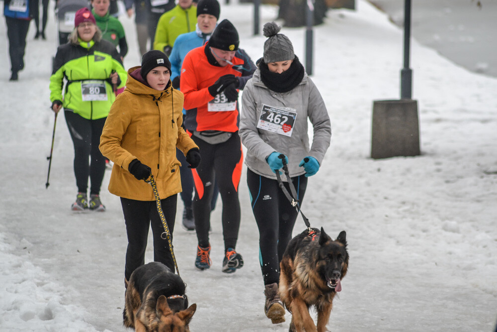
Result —
[[[297, 113], [290, 137], [257, 128], [263, 105], [290, 109], [292, 113]], [[307, 118], [311, 120], [314, 128], [311, 148]], [[305, 173], [299, 163], [307, 156], [316, 158], [319, 164], [322, 164], [330, 146], [331, 123], [323, 98], [307, 73], [293, 90], [276, 93], [262, 83], [260, 70], [257, 68], [242, 95], [239, 133], [242, 143], [247, 147], [245, 163], [251, 171], [266, 178], [276, 179], [276, 174], [269, 168], [266, 158], [273, 152], [279, 152], [288, 157], [290, 176], [295, 177]]]

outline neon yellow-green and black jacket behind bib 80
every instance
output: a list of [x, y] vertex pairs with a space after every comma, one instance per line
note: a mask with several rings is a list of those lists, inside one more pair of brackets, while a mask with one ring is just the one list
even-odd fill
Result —
[[[116, 99], [112, 84], [108, 80], [112, 71], [120, 78], [117, 88], [125, 85], [127, 73], [116, 48], [106, 40], [67, 43], [59, 46], [55, 55], [54, 70], [50, 77], [50, 102], [63, 102], [64, 110], [74, 111], [86, 119], [99, 119], [109, 114]], [[66, 79], [66, 86], [63, 84]], [[104, 84], [106, 101], [83, 101], [82, 84], [87, 80], [98, 80]]]

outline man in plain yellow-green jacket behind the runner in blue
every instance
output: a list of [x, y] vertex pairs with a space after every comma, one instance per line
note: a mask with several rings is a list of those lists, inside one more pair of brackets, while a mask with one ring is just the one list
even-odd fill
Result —
[[161, 16], [154, 39], [155, 50], [169, 56], [177, 36], [195, 30], [197, 7], [192, 3], [192, 0], [179, 0], [174, 8]]

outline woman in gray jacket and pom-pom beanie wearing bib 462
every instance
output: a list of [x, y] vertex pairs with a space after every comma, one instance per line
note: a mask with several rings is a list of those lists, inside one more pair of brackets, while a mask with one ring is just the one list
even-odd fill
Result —
[[[259, 260], [266, 301], [264, 312], [273, 324], [285, 321], [278, 295], [279, 262], [292, 237], [298, 212], [278, 187], [275, 172], [280, 154], [302, 202], [307, 178], [316, 174], [330, 146], [331, 124], [318, 89], [307, 76], [287, 36], [274, 22], [263, 28], [264, 54], [242, 95], [240, 137], [247, 147], [247, 183], [259, 229]], [[309, 146], [307, 119], [314, 137]], [[291, 192], [285, 182], [288, 192]]]

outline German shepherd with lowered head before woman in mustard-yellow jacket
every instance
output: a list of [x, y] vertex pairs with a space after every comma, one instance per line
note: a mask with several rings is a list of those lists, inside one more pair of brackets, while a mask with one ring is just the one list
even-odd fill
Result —
[[[158, 262], [140, 266], [126, 289], [123, 324], [137, 332], [188, 332], [196, 304], [188, 308], [186, 285]], [[188, 309], [187, 309], [188, 308]]]

